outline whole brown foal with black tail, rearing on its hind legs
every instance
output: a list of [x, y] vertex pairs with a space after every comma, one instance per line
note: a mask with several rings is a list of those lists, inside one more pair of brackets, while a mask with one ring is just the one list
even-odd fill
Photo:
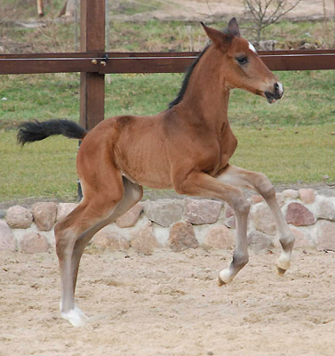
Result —
[[274, 102], [282, 97], [283, 86], [240, 36], [235, 18], [224, 32], [202, 25], [212, 44], [189, 70], [169, 109], [150, 117], [111, 117], [88, 133], [67, 120], [29, 122], [20, 127], [18, 139], [22, 144], [52, 134], [83, 140], [77, 172], [84, 198], [55, 227], [61, 315], [75, 326], [87, 320], [75, 303], [84, 247], [97, 231], [140, 200], [142, 185], [219, 198], [235, 209], [234, 258], [219, 272], [219, 286], [234, 279], [249, 259], [246, 234], [250, 204], [237, 187], [257, 190], [265, 198], [283, 247], [277, 270], [283, 274], [290, 266], [294, 238], [272, 184], [264, 174], [228, 163], [237, 145], [227, 118], [230, 89], [241, 88]]

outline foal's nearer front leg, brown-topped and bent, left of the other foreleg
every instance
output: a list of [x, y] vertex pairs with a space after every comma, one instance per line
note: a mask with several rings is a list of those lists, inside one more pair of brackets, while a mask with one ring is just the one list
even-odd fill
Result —
[[179, 194], [187, 194], [203, 198], [219, 198], [227, 201], [235, 210], [236, 238], [233, 261], [229, 267], [219, 272], [219, 286], [231, 282], [235, 275], [249, 261], [247, 242], [247, 219], [250, 203], [244, 197], [243, 192], [231, 185], [219, 182], [219, 180], [202, 172], [192, 172], [174, 179], [174, 188]]

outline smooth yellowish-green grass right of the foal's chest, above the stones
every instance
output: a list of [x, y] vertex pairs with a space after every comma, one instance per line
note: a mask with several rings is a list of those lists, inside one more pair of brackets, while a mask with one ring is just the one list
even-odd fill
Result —
[[267, 174], [274, 183], [335, 179], [335, 122], [328, 125], [257, 130], [236, 127], [239, 141], [231, 163]]

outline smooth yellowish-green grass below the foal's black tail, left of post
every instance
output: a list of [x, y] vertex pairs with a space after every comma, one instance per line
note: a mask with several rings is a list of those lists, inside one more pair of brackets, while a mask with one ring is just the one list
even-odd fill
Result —
[[15, 132], [0, 134], [0, 201], [76, 198], [76, 140], [52, 137], [21, 149]]

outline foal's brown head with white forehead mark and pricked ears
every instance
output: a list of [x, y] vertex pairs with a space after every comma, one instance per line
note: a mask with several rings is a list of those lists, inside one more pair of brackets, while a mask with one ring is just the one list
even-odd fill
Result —
[[283, 85], [278, 78], [259, 59], [255, 48], [240, 36], [240, 29], [235, 18], [229, 21], [228, 28], [220, 32], [203, 28], [219, 50], [221, 74], [228, 89], [241, 88], [267, 98], [273, 103], [283, 96]]

